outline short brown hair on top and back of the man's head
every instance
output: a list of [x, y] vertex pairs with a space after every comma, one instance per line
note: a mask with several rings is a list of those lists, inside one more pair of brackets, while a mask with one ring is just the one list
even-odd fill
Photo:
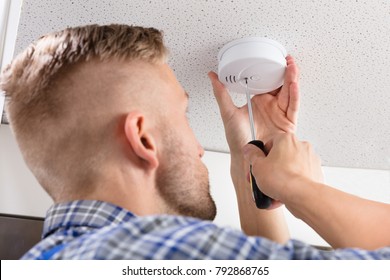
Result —
[[[62, 106], [58, 92], [51, 88], [59, 73], [92, 59], [155, 63], [165, 62], [166, 56], [162, 32], [154, 28], [88, 25], [41, 37], [4, 69], [0, 86], [6, 95], [7, 117], [26, 163], [49, 194], [53, 196], [48, 185], [58, 178], [51, 170], [53, 161], [48, 160], [55, 155], [45, 145], [57, 140], [42, 126], [53, 126], [50, 120], [58, 117], [57, 108]], [[40, 133], [46, 135], [37, 137]], [[51, 142], [41, 143], [43, 137], [52, 137]], [[63, 143], [64, 139], [58, 141]]]

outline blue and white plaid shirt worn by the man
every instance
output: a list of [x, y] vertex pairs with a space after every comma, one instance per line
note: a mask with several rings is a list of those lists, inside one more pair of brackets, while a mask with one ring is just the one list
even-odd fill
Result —
[[322, 251], [297, 240], [280, 245], [194, 218], [137, 217], [106, 202], [73, 201], [49, 209], [42, 241], [23, 259], [390, 259], [390, 247]]

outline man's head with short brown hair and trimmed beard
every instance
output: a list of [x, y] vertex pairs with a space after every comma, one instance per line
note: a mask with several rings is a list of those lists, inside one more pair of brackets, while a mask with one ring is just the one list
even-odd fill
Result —
[[188, 97], [166, 57], [156, 29], [91, 25], [40, 38], [4, 70], [11, 127], [55, 201], [214, 218]]

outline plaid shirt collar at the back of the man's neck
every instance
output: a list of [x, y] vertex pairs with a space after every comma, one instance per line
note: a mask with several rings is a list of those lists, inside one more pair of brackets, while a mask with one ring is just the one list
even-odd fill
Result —
[[134, 214], [117, 205], [98, 200], [76, 200], [54, 204], [46, 214], [43, 238], [59, 228], [90, 227], [101, 228], [120, 224], [134, 217]]

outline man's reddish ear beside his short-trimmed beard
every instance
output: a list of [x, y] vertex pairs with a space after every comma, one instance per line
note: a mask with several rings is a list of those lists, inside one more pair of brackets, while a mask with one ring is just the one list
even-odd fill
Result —
[[149, 131], [150, 127], [146, 125], [145, 117], [141, 112], [131, 112], [126, 117], [125, 135], [135, 155], [146, 162], [149, 168], [155, 169], [159, 165], [157, 146]]

